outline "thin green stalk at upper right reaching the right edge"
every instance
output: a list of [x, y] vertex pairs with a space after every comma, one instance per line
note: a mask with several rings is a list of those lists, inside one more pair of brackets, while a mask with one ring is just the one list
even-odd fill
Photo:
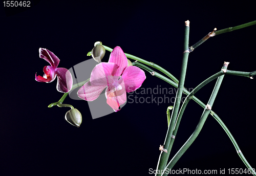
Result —
[[231, 28], [225, 28], [225, 29], [222, 29], [222, 30], [219, 30], [219, 31], [216, 31], [216, 32], [214, 30], [211, 33], [209, 33], [210, 35], [207, 34], [201, 40], [199, 40], [197, 43], [195, 43], [193, 46], [189, 47], [189, 49], [190, 49], [190, 51], [193, 51], [198, 46], [200, 46], [203, 42], [205, 42], [209, 37], [213, 37], [213, 36], [223, 34], [223, 33], [226, 33], [226, 32], [231, 32], [231, 31], [238, 30], [238, 29], [241, 29], [241, 28], [245, 28], [245, 27], [248, 27], [248, 26], [251, 26], [251, 25], [256, 25], [256, 20], [251, 21], [251, 22], [246, 23], [246, 24], [243, 24], [243, 25], [239, 25], [239, 26], [235, 26], [235, 27], [231, 27]]

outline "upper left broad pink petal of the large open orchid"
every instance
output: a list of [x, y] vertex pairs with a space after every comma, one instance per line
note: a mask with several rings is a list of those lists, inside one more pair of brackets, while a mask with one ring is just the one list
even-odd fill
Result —
[[116, 73], [118, 68], [115, 63], [101, 62], [97, 64], [91, 73], [91, 84], [95, 86], [109, 85], [110, 82], [113, 82], [112, 75]]

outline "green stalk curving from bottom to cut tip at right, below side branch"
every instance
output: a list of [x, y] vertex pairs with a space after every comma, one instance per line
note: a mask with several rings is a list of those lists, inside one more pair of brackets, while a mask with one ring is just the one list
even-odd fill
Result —
[[[225, 66], [223, 66], [223, 69]], [[168, 165], [166, 166], [166, 168], [164, 170], [168, 169], [172, 169], [173, 166], [177, 163], [177, 161], [180, 159], [180, 157], [183, 155], [183, 153], [188, 149], [188, 147], [195, 141], [195, 139], [197, 138], [197, 136], [199, 135], [205, 120], [207, 119], [209, 113], [210, 113], [210, 109], [212, 107], [212, 105], [214, 104], [215, 98], [218, 94], [218, 91], [220, 89], [220, 85], [222, 83], [224, 75], [220, 76], [215, 84], [214, 87], [214, 91], [212, 91], [212, 94], [210, 96], [210, 99], [208, 101], [208, 104], [206, 105], [206, 107], [204, 108], [204, 112], [199, 120], [199, 123], [194, 131], [194, 133], [189, 137], [189, 139], [186, 141], [186, 143], [180, 148], [180, 150], [176, 153], [176, 155], [174, 156], [174, 158], [172, 160], [170, 160], [170, 162], [168, 163]], [[167, 175], [167, 173], [162, 174], [163, 175]]]

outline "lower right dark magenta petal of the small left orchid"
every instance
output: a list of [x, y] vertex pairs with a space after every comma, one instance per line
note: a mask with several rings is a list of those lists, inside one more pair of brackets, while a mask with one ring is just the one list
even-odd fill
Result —
[[56, 75], [58, 77], [57, 91], [67, 93], [72, 89], [72, 75], [68, 69], [57, 68]]

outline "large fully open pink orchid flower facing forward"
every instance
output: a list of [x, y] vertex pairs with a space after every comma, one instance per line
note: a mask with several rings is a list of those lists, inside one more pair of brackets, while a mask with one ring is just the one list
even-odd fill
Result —
[[105, 96], [115, 112], [126, 101], [126, 92], [137, 90], [146, 79], [145, 73], [138, 67], [127, 67], [127, 58], [120, 47], [111, 52], [109, 62], [101, 62], [95, 66], [90, 81], [77, 92], [78, 97], [93, 101], [106, 88]]

